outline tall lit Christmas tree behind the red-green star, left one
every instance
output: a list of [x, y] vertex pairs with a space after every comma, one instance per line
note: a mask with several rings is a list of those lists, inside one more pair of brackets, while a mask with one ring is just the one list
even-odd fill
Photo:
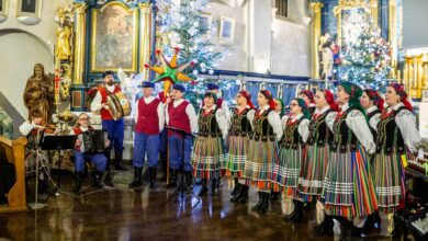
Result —
[[190, 83], [184, 83], [188, 89], [188, 99], [198, 105], [205, 91], [205, 83], [214, 82], [204, 76], [213, 74], [214, 69], [224, 60], [227, 53], [227, 48], [212, 43], [212, 36], [216, 30], [211, 25], [215, 24], [206, 22], [207, 18], [203, 18], [202, 13], [207, 4], [207, 0], [156, 1], [158, 9], [156, 21], [159, 33], [164, 36], [160, 47], [167, 57], [174, 54], [173, 49], [179, 49], [179, 65], [194, 64], [183, 72], [193, 79]]

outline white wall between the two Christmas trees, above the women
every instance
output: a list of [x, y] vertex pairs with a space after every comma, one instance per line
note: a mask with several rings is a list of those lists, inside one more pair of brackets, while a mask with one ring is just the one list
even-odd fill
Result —
[[214, 43], [218, 44], [221, 16], [236, 21], [235, 42], [228, 46], [232, 55], [218, 69], [308, 77], [311, 18], [305, 2], [289, 0], [285, 19], [275, 16], [273, 0], [211, 2], [205, 12], [218, 21]]

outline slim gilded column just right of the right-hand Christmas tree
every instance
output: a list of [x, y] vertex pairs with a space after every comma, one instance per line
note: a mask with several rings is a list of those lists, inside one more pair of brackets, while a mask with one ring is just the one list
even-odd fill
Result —
[[391, 44], [391, 66], [393, 68], [393, 78], [395, 78], [395, 71], [397, 67], [397, 49], [398, 49], [398, 43], [397, 43], [397, 2], [396, 0], [390, 0], [388, 5], [388, 38]]

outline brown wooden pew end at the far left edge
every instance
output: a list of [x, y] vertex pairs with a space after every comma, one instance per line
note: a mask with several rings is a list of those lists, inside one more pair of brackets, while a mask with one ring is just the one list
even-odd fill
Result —
[[25, 197], [25, 145], [26, 138], [21, 137], [16, 140], [10, 140], [3, 136], [0, 136], [0, 145], [5, 151], [8, 161], [15, 167], [16, 182], [9, 191], [8, 200], [9, 205], [0, 206], [0, 213], [19, 211], [26, 209]]

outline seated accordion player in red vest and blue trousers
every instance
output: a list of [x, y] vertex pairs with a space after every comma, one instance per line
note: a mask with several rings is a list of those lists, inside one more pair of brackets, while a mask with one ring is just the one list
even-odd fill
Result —
[[[77, 119], [77, 126], [72, 128], [70, 135], [77, 135], [75, 147], [75, 170], [76, 170], [76, 186], [75, 192], [80, 192], [81, 179], [83, 175], [85, 164], [90, 160], [97, 170], [93, 175], [93, 184], [97, 188], [102, 188], [101, 177], [105, 171], [108, 159], [104, 153], [88, 153], [83, 145], [83, 133], [93, 131], [93, 127], [89, 125], [89, 115], [81, 113]], [[104, 146], [109, 147], [110, 140], [106, 139]]]

